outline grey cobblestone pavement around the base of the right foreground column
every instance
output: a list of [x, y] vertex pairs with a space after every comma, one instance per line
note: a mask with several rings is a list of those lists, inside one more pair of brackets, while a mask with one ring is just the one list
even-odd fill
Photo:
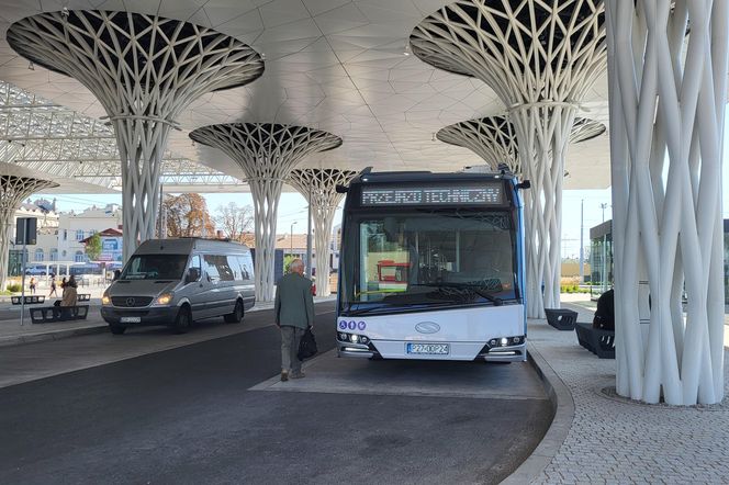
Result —
[[[579, 311], [579, 322], [592, 322], [590, 305], [563, 306]], [[729, 483], [729, 399], [680, 407], [609, 397], [603, 390], [614, 392], [615, 360], [598, 359], [573, 331], [546, 320], [530, 320], [528, 331], [570, 390], [575, 413], [559, 452], [532, 483]], [[725, 372], [725, 390], [728, 384]]]

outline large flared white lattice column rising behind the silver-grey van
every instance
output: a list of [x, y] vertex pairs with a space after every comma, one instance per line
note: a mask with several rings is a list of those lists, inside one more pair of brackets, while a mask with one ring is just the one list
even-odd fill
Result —
[[124, 259], [154, 237], [161, 157], [190, 102], [263, 71], [254, 49], [188, 22], [134, 12], [45, 12], [12, 24], [12, 48], [78, 79], [114, 126], [122, 161]]

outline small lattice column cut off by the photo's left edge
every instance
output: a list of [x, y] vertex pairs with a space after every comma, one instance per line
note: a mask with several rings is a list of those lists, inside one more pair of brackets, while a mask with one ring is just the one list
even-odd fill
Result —
[[9, 232], [15, 216], [15, 210], [29, 195], [44, 189], [58, 187], [51, 180], [15, 174], [0, 174], [0, 289], [5, 289], [8, 281], [8, 252], [10, 251]]

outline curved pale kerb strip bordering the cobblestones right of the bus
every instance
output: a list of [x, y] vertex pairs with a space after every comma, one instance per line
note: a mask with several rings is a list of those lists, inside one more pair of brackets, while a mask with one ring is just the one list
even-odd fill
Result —
[[528, 361], [537, 371], [547, 392], [547, 397], [554, 409], [552, 424], [547, 433], [541, 439], [534, 452], [527, 458], [518, 469], [507, 476], [502, 484], [521, 485], [531, 483], [541, 472], [551, 463], [560, 447], [567, 439], [572, 420], [574, 419], [574, 401], [572, 393], [562, 382], [554, 370], [547, 363], [543, 357], [531, 345], [527, 343]]

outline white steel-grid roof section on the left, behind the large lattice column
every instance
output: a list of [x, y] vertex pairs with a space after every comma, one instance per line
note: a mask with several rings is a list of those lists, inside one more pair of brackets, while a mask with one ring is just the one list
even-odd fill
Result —
[[[119, 148], [108, 123], [1, 80], [0, 160], [60, 178], [53, 189], [57, 193], [121, 190]], [[238, 192], [246, 187], [239, 178], [170, 151], [165, 155], [161, 177], [168, 192], [200, 191], [201, 187]]]

